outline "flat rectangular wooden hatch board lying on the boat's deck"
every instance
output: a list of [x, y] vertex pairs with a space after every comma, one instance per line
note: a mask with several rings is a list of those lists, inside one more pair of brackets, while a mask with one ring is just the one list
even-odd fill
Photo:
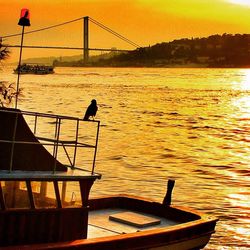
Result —
[[122, 212], [109, 216], [110, 220], [136, 227], [149, 227], [161, 223], [160, 219], [134, 212]]

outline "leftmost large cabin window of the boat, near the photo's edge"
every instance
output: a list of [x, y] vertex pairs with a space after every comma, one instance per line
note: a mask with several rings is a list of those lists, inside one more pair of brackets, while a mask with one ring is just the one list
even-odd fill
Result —
[[3, 196], [6, 209], [30, 208], [27, 186], [24, 181], [7, 181], [3, 185]]

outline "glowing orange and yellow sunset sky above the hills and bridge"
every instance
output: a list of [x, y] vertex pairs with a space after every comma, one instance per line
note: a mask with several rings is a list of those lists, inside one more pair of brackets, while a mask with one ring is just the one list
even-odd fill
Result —
[[[28, 8], [31, 26], [26, 31], [83, 16], [103, 23], [140, 46], [179, 38], [213, 34], [250, 33], [250, 0], [0, 0], [0, 36], [21, 32], [17, 25], [21, 8]], [[134, 49], [90, 23], [90, 48]], [[82, 21], [24, 37], [26, 45], [82, 47]], [[20, 37], [8, 38], [20, 44]], [[16, 60], [18, 49], [12, 49]], [[23, 57], [76, 55], [79, 51], [26, 49]]]

